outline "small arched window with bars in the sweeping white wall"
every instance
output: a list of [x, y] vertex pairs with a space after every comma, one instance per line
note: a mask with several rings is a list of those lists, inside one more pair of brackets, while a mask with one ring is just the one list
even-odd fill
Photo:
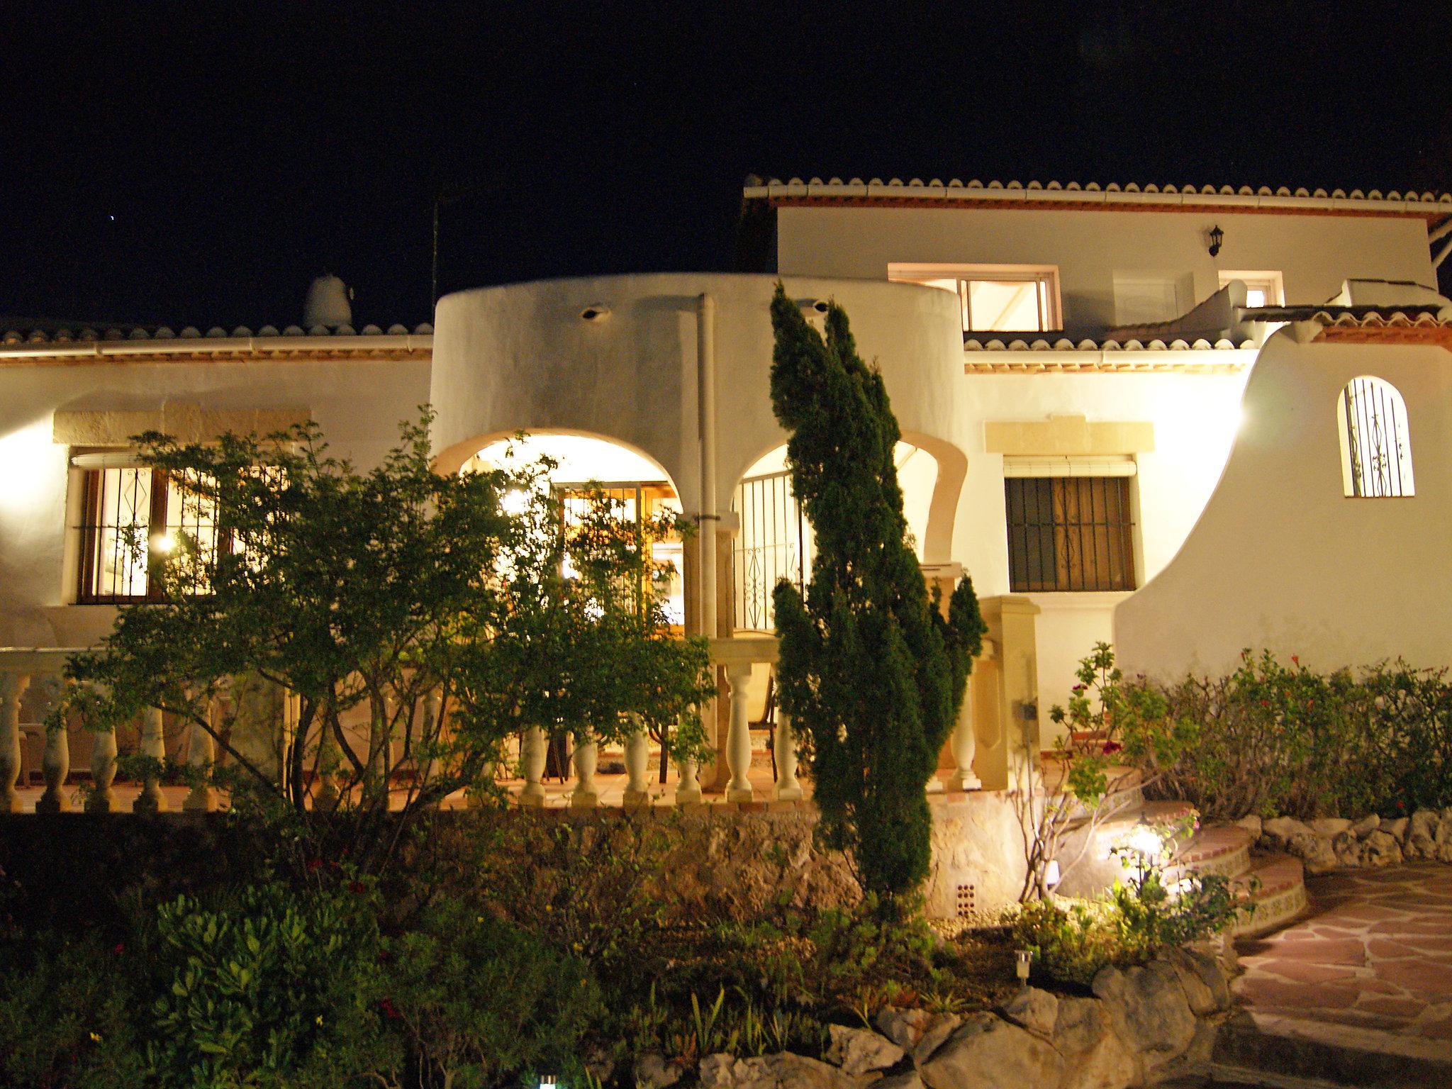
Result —
[[1342, 492], [1355, 498], [1413, 495], [1407, 404], [1390, 382], [1353, 378], [1336, 399]]

